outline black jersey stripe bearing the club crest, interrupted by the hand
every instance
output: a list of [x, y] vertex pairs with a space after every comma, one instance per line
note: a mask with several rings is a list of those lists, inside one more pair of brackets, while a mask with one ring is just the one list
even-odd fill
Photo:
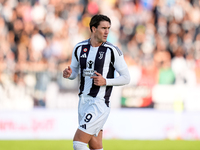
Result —
[[[107, 47], [100, 46], [94, 63], [94, 70], [97, 71], [100, 74], [103, 74], [103, 66], [105, 62], [105, 56], [106, 56]], [[90, 89], [90, 92], [88, 95], [92, 97], [96, 97], [99, 92], [100, 86], [94, 85], [94, 81], [92, 83], [92, 88]]]

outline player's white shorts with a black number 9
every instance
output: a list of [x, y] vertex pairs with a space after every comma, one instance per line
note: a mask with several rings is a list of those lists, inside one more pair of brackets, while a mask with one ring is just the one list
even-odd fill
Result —
[[91, 96], [80, 96], [78, 106], [79, 129], [87, 134], [98, 136], [110, 114], [104, 100]]

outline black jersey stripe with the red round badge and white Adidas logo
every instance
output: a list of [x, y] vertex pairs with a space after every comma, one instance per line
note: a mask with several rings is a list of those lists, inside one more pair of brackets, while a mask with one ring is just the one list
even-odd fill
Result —
[[[87, 49], [87, 51], [84, 51], [85, 49]], [[80, 81], [80, 92], [79, 92], [79, 95], [82, 94], [82, 91], [84, 90], [84, 84], [85, 84], [85, 77], [83, 76], [83, 70], [86, 69], [87, 67], [87, 56], [88, 56], [88, 53], [90, 51], [90, 45], [82, 45], [82, 48], [81, 48], [81, 52], [80, 52], [80, 68], [81, 68], [81, 72], [80, 72], [80, 76], [81, 76], [81, 81]], [[86, 54], [86, 57], [81, 57], [83, 56], [84, 54]]]

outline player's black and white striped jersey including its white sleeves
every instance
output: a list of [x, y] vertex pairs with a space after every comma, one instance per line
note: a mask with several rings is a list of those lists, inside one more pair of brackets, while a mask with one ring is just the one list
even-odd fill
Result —
[[[72, 72], [80, 74], [79, 95], [90, 95], [104, 99], [106, 103], [109, 102], [112, 86], [115, 85], [112, 84], [114, 71], [128, 70], [122, 51], [119, 48], [109, 42], [105, 42], [99, 47], [92, 47], [90, 39], [75, 46], [72, 54], [71, 68]], [[90, 77], [95, 75], [95, 71], [106, 79], [106, 86], [94, 85], [93, 79]], [[71, 77], [73, 76], [71, 75], [71, 79], [75, 78], [76, 75], [74, 77]]]

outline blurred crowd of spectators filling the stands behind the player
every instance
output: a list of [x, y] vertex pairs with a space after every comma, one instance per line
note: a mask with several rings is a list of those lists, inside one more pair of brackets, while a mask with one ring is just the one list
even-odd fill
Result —
[[98, 13], [111, 18], [131, 85], [200, 84], [200, 0], [0, 0], [0, 109], [77, 89], [62, 71]]

